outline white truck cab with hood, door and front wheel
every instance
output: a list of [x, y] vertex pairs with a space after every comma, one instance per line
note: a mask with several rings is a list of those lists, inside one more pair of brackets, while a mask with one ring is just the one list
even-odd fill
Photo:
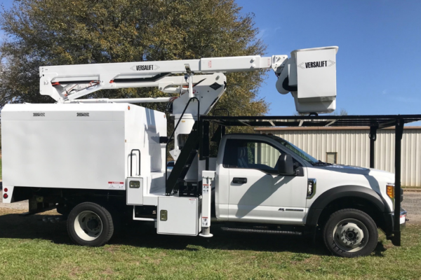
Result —
[[312, 232], [326, 230], [336, 214], [330, 239], [339, 247], [332, 250], [356, 255], [377, 244], [377, 228], [391, 235], [393, 188], [389, 172], [321, 162], [273, 135], [227, 134], [216, 161], [215, 216]]

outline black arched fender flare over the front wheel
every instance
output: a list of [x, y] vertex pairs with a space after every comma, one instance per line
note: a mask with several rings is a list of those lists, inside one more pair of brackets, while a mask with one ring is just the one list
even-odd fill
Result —
[[382, 200], [382, 197], [370, 188], [361, 186], [339, 186], [327, 190], [316, 198], [309, 208], [306, 225], [316, 226], [323, 209], [325, 209], [330, 202], [333, 202], [333, 200], [338, 200], [338, 198], [342, 197], [363, 198], [364, 200], [372, 202], [382, 213], [389, 210], [386, 206], [387, 204]]

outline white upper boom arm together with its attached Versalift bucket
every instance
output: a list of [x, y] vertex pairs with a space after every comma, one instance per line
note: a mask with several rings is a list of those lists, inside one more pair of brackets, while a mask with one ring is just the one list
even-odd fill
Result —
[[[95, 92], [125, 87], [158, 87], [162, 92], [194, 97], [193, 74], [255, 71], [272, 68], [276, 89], [291, 92], [300, 113], [330, 113], [336, 106], [336, 52], [338, 47], [294, 50], [287, 55], [213, 57], [161, 62], [124, 62], [42, 66], [40, 93], [55, 101], [72, 102]], [[185, 81], [172, 74], [185, 73]], [[187, 90], [184, 90], [187, 84]], [[216, 83], [216, 82], [215, 82]], [[86, 99], [79, 102], [99, 102]], [[105, 102], [105, 100], [102, 100]], [[120, 102], [114, 100], [113, 102]], [[168, 102], [164, 99], [126, 99], [121, 102]], [[208, 110], [206, 110], [208, 111]]]

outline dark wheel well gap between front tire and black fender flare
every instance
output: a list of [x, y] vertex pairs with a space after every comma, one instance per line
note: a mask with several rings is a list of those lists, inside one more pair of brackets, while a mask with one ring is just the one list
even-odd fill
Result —
[[373, 221], [375, 221], [377, 227], [381, 227], [385, 222], [382, 211], [378, 209], [378, 207], [376, 207], [373, 202], [365, 200], [361, 197], [341, 197], [337, 200], [333, 200], [333, 202], [330, 202], [323, 209], [319, 216], [319, 220], [317, 221], [318, 226], [322, 228], [323, 225], [325, 225], [325, 223], [328, 221], [328, 218], [331, 214], [340, 209], [347, 208], [358, 209], [365, 212], [373, 219]]

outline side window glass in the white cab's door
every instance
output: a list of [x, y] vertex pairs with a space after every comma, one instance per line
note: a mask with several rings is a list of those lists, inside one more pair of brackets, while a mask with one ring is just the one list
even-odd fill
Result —
[[227, 139], [222, 163], [226, 168], [259, 169], [277, 174], [277, 163], [282, 153], [265, 141]]

